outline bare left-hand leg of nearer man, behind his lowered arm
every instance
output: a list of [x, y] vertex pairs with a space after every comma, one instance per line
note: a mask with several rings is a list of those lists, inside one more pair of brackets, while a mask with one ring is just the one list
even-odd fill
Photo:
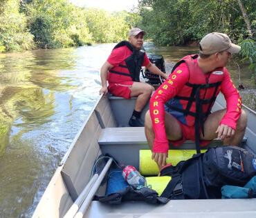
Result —
[[[178, 121], [169, 113], [165, 112], [165, 132], [169, 140], [179, 140], [182, 137], [181, 127]], [[149, 110], [145, 115], [145, 135], [147, 142], [149, 143], [149, 148], [152, 150], [154, 145], [154, 129], [152, 126], [152, 119], [149, 114]], [[158, 165], [159, 170], [162, 166]]]

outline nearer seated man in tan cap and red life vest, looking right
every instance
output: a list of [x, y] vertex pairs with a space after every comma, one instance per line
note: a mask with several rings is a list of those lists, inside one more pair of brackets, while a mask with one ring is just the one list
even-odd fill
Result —
[[[205, 146], [214, 138], [231, 146], [243, 139], [246, 113], [241, 110], [241, 97], [225, 68], [239, 50], [240, 46], [231, 43], [226, 34], [207, 34], [199, 43], [199, 55], [188, 55], [176, 63], [150, 99], [145, 134], [152, 159], [160, 169], [166, 164], [168, 140], [174, 146], [187, 139], [196, 141], [196, 151], [200, 152], [199, 144]], [[220, 91], [227, 108], [211, 114]]]

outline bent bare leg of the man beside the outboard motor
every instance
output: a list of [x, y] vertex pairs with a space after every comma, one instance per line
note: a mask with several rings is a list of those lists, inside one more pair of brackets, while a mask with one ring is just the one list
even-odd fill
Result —
[[134, 110], [141, 112], [149, 101], [154, 87], [143, 82], [134, 82], [130, 88], [131, 97], [137, 97]]

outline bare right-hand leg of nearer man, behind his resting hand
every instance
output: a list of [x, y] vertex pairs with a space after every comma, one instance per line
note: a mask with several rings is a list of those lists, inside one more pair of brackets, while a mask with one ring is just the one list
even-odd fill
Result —
[[[222, 117], [226, 114], [226, 109], [217, 110], [213, 112], [209, 117], [206, 119], [204, 123], [204, 132], [205, 135], [201, 135], [201, 139], [205, 140], [212, 140], [217, 138], [216, 130], [219, 126], [219, 123]], [[230, 145], [230, 146], [239, 146], [239, 143], [244, 137], [244, 132], [246, 131], [246, 124], [247, 124], [247, 115], [244, 110], [241, 110], [241, 116], [237, 121], [237, 128], [235, 130], [235, 135], [233, 137], [229, 137], [223, 140], [223, 145]]]

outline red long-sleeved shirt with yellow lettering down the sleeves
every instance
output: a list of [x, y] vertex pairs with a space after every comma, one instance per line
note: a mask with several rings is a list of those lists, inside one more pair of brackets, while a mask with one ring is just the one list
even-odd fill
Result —
[[[194, 63], [197, 64], [197, 59], [193, 60]], [[205, 78], [208, 77], [208, 74], [204, 74]], [[165, 133], [165, 108], [164, 104], [169, 100], [179, 96], [190, 96], [190, 92], [188, 92], [188, 88], [185, 88], [185, 84], [190, 81], [190, 72], [188, 70], [188, 66], [186, 63], [181, 63], [174, 72], [170, 75], [169, 79], [167, 79], [159, 88], [156, 90], [152, 98], [150, 99], [149, 110], [150, 115], [152, 117], [152, 123], [155, 133], [153, 152], [163, 152], [167, 153], [169, 149], [169, 142], [167, 140], [167, 136]], [[235, 88], [230, 79], [230, 75], [226, 68], [223, 68], [223, 77], [220, 89], [218, 89], [223, 93], [226, 103], [227, 103], [227, 111], [226, 115], [224, 115], [223, 119], [221, 119], [221, 123], [230, 126], [231, 128], [236, 128], [237, 119], [241, 114], [241, 98], [239, 97], [239, 92]], [[181, 105], [182, 105], [181, 101]], [[182, 105], [185, 108], [184, 105]], [[179, 119], [179, 117], [176, 117]], [[187, 119], [187, 118], [186, 118]], [[190, 117], [189, 123], [192, 124]], [[181, 121], [181, 119], [179, 119]]]

